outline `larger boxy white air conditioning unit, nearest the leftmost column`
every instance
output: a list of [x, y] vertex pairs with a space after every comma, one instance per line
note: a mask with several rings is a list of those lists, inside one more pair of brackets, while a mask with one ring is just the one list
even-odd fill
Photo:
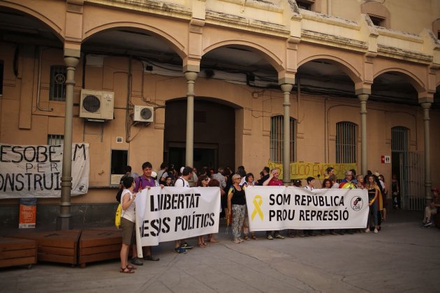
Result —
[[90, 121], [113, 119], [115, 93], [111, 91], [94, 91], [82, 89], [80, 97], [80, 117]]

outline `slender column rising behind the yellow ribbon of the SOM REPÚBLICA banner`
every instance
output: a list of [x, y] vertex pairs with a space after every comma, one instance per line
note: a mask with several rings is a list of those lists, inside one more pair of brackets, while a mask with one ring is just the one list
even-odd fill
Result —
[[283, 116], [283, 182], [291, 182], [291, 90], [293, 84], [281, 84], [284, 95]]

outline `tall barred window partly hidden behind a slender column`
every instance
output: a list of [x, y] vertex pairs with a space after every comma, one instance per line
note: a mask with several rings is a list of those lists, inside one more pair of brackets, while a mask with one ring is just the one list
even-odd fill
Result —
[[[274, 116], [270, 119], [270, 160], [276, 163], [283, 162], [283, 121], [284, 117]], [[290, 119], [291, 162], [295, 161], [295, 119]]]

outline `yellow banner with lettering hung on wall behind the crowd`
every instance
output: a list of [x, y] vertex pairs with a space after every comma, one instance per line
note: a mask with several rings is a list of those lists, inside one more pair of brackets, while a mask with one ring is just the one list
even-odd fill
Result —
[[[278, 168], [280, 170], [279, 179], [283, 179], [283, 164], [269, 161], [269, 165], [267, 167], [269, 167], [270, 170], [274, 168]], [[335, 168], [335, 175], [337, 179], [344, 179], [345, 172], [348, 170], [351, 169], [356, 170], [355, 163], [337, 164], [337, 163], [294, 162], [291, 163], [290, 165], [291, 179], [306, 179], [307, 177], [315, 177], [317, 179], [318, 174], [319, 174], [319, 179], [324, 179], [325, 170], [328, 167]]]

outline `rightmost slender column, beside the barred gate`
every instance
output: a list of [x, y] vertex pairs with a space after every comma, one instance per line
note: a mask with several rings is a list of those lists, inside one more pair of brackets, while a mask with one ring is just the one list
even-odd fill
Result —
[[432, 200], [431, 195], [431, 154], [430, 154], [430, 102], [420, 103], [423, 108], [423, 135], [425, 138], [425, 206]]

